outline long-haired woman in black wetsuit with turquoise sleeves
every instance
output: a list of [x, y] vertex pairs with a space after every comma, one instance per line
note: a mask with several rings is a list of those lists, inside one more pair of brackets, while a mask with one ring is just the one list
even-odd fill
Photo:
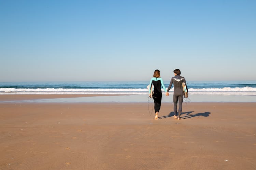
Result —
[[[154, 85], [154, 94], [151, 96], [151, 87]], [[165, 88], [165, 85], [163, 84], [163, 79], [160, 77], [160, 71], [155, 70], [153, 78], [150, 80], [150, 88], [148, 90], [150, 97], [154, 99], [155, 102], [155, 113], [156, 117], [155, 119], [158, 119], [158, 112], [161, 107], [161, 100], [162, 100], [162, 90], [161, 90], [161, 85], [162, 88], [165, 90], [167, 94], [167, 90]]]

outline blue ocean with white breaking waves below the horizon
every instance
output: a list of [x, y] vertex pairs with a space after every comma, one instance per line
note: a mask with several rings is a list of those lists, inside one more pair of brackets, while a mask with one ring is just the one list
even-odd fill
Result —
[[[3, 94], [148, 94], [149, 81], [0, 82]], [[166, 88], [169, 82], [165, 82]], [[256, 81], [187, 81], [189, 94], [256, 95]], [[163, 90], [162, 90], [163, 91]], [[173, 86], [170, 91], [173, 91]], [[164, 92], [164, 91], [163, 91]]]

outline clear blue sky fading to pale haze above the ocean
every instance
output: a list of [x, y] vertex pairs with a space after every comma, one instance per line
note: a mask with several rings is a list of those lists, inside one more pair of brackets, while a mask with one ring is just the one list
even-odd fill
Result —
[[0, 81], [256, 80], [255, 0], [0, 0]]

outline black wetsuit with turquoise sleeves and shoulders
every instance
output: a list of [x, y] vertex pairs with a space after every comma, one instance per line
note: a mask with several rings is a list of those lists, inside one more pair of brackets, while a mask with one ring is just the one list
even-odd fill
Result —
[[149, 94], [151, 93], [151, 87], [154, 85], [154, 94], [153, 94], [153, 99], [155, 102], [155, 113], [159, 112], [160, 107], [161, 107], [161, 100], [162, 100], [162, 90], [161, 90], [161, 85], [165, 92], [167, 92], [165, 85], [163, 84], [163, 79], [162, 78], [156, 78], [153, 77], [150, 80], [150, 88], [148, 90]]

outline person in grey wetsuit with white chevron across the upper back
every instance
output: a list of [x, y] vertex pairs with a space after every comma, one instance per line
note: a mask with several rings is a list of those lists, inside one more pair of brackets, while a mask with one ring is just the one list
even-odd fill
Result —
[[[184, 82], [187, 88], [187, 83], [184, 77], [181, 77], [181, 70], [175, 69], [174, 71], [174, 77], [171, 78], [170, 85], [167, 89], [167, 92], [169, 94], [169, 90], [171, 89], [171, 86], [173, 84], [174, 90], [173, 90], [173, 111], [174, 111], [174, 118], [181, 119], [181, 112], [182, 112], [182, 102], [183, 102], [183, 88], [182, 83]], [[179, 101], [179, 116], [177, 117], [177, 102]]]

